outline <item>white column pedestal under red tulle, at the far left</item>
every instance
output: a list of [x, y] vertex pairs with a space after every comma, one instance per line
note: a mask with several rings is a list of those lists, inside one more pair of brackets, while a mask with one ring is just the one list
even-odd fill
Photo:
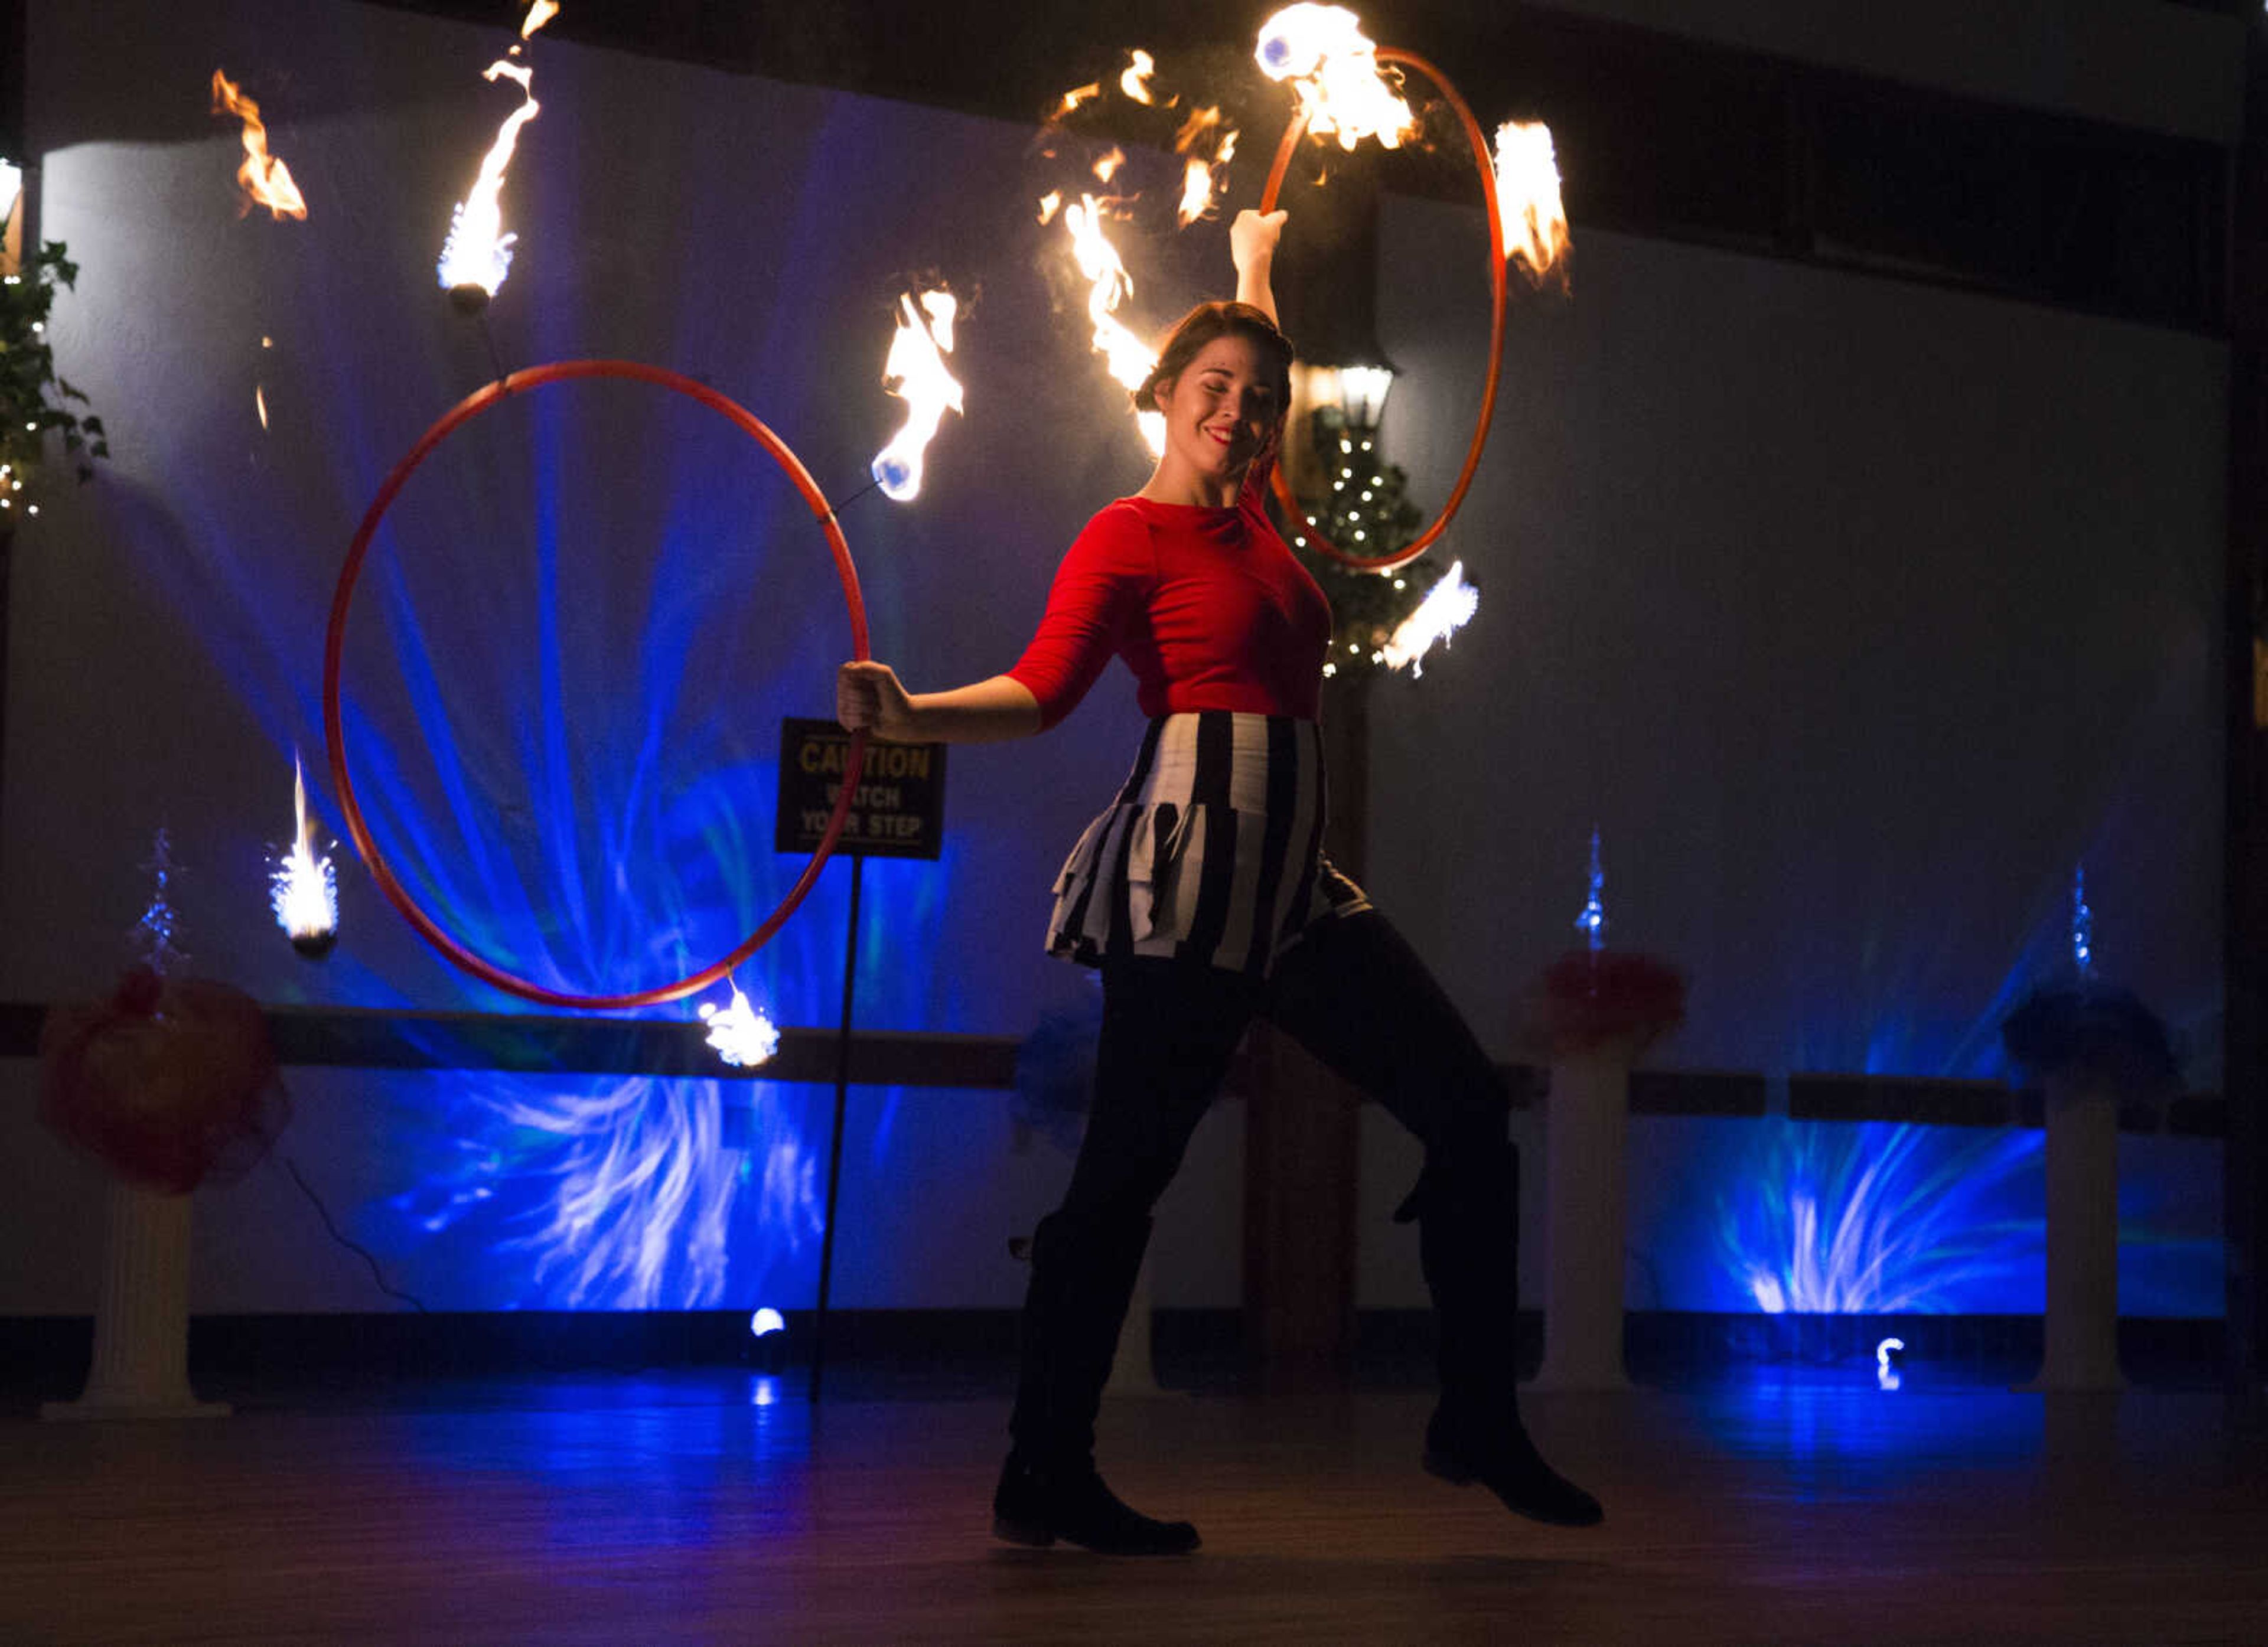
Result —
[[104, 1205], [95, 1359], [75, 1402], [41, 1418], [220, 1418], [188, 1388], [191, 1198], [113, 1182]]

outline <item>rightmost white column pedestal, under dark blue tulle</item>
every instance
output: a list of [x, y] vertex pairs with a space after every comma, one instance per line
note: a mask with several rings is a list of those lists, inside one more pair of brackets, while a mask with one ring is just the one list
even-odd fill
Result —
[[2118, 1100], [2048, 1082], [2046, 1354], [2025, 1391], [2116, 1391]]

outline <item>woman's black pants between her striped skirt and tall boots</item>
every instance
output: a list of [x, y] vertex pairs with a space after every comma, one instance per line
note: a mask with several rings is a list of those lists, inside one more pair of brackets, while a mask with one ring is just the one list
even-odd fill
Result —
[[1095, 1096], [1066, 1216], [1150, 1214], [1254, 1016], [1383, 1103], [1424, 1143], [1429, 1173], [1501, 1152], [1504, 1078], [1417, 953], [1365, 910], [1320, 921], [1268, 982], [1143, 955], [1102, 964]]

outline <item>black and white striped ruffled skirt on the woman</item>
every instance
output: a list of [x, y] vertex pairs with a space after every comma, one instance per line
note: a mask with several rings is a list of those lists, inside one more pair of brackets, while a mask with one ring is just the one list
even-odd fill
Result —
[[1232, 710], [1150, 721], [1118, 801], [1055, 878], [1048, 951], [1266, 978], [1311, 926], [1370, 907], [1322, 855], [1322, 808], [1315, 721]]

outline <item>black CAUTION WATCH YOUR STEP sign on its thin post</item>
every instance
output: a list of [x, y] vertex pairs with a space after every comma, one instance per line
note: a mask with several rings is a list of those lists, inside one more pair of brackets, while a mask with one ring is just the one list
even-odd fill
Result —
[[[780, 721], [780, 808], [773, 848], [819, 848], [841, 799], [850, 733], [835, 721]], [[937, 858], [946, 842], [946, 746], [866, 740], [844, 833], [835, 853], [850, 858], [850, 930], [844, 939], [844, 1016], [835, 1039], [835, 1125], [828, 1141], [828, 1214], [819, 1236], [819, 1309], [812, 1314], [812, 1384], [819, 1400], [828, 1366], [828, 1295], [835, 1286], [835, 1200], [844, 1173], [844, 1112], [850, 1105], [850, 1010], [857, 994], [857, 917], [866, 858]]]

